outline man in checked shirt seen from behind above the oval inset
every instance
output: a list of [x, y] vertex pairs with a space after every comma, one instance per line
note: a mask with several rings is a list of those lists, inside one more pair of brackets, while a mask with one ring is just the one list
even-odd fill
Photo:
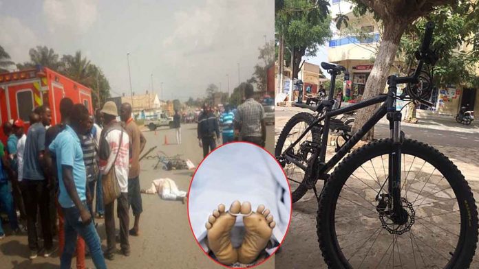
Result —
[[253, 93], [253, 85], [246, 83], [244, 88], [246, 100], [237, 108], [235, 128], [240, 131], [241, 141], [264, 147], [266, 141], [264, 108], [253, 99]]

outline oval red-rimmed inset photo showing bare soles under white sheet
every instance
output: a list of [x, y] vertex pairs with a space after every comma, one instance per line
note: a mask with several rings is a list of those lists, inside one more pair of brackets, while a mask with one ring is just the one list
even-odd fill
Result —
[[196, 169], [188, 217], [198, 245], [211, 259], [231, 268], [257, 266], [275, 253], [288, 230], [288, 180], [264, 148], [228, 143]]

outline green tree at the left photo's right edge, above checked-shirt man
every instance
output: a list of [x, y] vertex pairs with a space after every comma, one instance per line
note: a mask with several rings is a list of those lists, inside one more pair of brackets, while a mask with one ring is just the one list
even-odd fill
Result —
[[275, 65], [275, 43], [270, 41], [264, 45], [264, 47], [259, 48], [258, 60], [262, 61], [262, 64], [255, 65], [255, 71], [253, 72], [253, 79], [250, 82], [255, 82], [258, 89], [266, 91], [267, 79], [266, 74], [268, 69]]

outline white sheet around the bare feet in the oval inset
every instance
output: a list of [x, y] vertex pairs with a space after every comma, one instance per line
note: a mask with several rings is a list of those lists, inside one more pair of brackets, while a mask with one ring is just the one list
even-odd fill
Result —
[[[291, 198], [286, 177], [273, 156], [249, 143], [231, 143], [218, 148], [198, 167], [189, 193], [189, 217], [193, 233], [205, 251], [205, 223], [218, 204], [229, 208], [234, 200], [270, 209], [275, 222], [273, 241], [281, 242], [290, 220]], [[238, 217], [236, 227], [242, 227]], [[241, 229], [240, 229], [241, 230]], [[233, 229], [233, 245], [242, 235]], [[272, 253], [275, 248], [267, 250]]]

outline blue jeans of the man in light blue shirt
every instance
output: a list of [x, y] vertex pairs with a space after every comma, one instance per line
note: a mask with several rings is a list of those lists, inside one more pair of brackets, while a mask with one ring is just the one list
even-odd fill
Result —
[[[87, 205], [83, 201], [83, 205]], [[80, 235], [88, 246], [90, 255], [96, 268], [107, 268], [103, 252], [101, 250], [100, 237], [96, 233], [93, 222], [84, 225], [80, 219], [80, 211], [76, 207], [62, 208], [63, 218], [65, 218], [65, 247], [60, 258], [60, 268], [70, 268], [72, 266], [72, 256], [75, 253], [76, 239]]]

